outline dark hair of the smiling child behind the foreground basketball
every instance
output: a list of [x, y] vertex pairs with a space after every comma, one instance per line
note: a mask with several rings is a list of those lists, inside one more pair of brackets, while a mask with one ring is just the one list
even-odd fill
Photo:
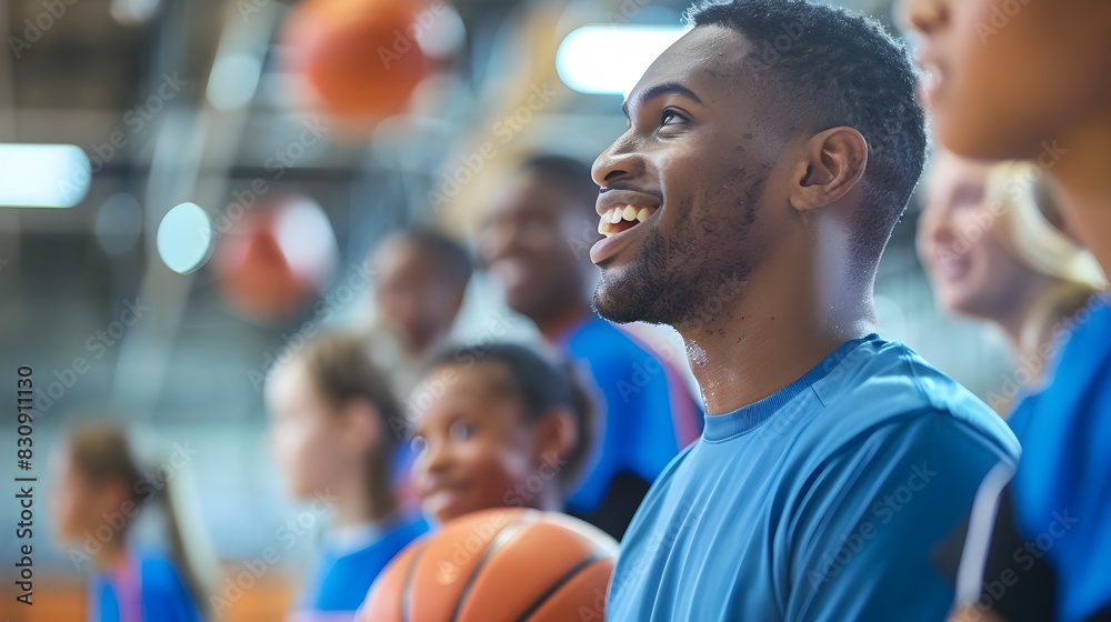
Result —
[[422, 377], [443, 367], [498, 365], [508, 372], [508, 381], [498, 390], [521, 403], [523, 422], [532, 424], [557, 408], [565, 408], [574, 417], [579, 442], [561, 457], [565, 463], [559, 471], [564, 493], [582, 472], [594, 443], [595, 407], [580, 380], [578, 370], [568, 362], [553, 361], [532, 348], [494, 341], [472, 348], [449, 348], [440, 351], [424, 365]]

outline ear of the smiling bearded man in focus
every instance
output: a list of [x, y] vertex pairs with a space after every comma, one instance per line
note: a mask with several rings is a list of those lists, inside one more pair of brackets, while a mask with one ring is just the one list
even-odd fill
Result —
[[840, 127], [814, 134], [803, 146], [791, 207], [807, 212], [837, 202], [857, 185], [867, 164], [868, 143], [857, 130]]

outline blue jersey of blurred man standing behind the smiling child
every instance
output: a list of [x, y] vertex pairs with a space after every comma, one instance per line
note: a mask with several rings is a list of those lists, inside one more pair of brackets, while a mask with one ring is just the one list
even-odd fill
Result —
[[597, 315], [557, 344], [582, 372], [599, 423], [567, 508], [620, 539], [649, 485], [698, 439], [702, 411], [674, 367]]

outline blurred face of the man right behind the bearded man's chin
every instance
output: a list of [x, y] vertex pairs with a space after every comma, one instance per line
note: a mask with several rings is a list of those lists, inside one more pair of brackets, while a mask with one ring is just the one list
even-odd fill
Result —
[[494, 200], [480, 252], [511, 309], [538, 318], [582, 295], [580, 264], [598, 239], [589, 207], [552, 180], [527, 172]]

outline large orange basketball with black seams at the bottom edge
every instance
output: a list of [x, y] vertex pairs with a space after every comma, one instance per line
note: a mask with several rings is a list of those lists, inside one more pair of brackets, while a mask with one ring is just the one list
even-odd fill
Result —
[[565, 514], [474, 512], [394, 558], [360, 621], [602, 620], [617, 551], [612, 538]]

